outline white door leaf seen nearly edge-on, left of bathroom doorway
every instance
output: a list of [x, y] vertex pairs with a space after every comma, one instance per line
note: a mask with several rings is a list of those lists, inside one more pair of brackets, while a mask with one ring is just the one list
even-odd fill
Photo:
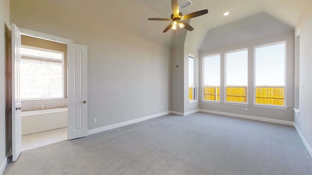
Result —
[[12, 24], [12, 159], [21, 152], [20, 45], [19, 28]]

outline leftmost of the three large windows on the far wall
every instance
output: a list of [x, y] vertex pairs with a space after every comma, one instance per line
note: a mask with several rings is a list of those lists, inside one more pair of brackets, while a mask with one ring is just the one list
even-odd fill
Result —
[[220, 101], [220, 54], [203, 60], [203, 100]]

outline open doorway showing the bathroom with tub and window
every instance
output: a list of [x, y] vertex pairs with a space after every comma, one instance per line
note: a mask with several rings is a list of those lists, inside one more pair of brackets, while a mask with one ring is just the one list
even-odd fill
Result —
[[67, 44], [21, 35], [21, 151], [68, 140]]

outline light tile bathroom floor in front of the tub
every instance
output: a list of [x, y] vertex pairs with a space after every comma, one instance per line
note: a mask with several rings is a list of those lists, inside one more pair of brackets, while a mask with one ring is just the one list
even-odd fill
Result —
[[29, 134], [21, 137], [21, 150], [26, 151], [67, 139], [67, 127]]

